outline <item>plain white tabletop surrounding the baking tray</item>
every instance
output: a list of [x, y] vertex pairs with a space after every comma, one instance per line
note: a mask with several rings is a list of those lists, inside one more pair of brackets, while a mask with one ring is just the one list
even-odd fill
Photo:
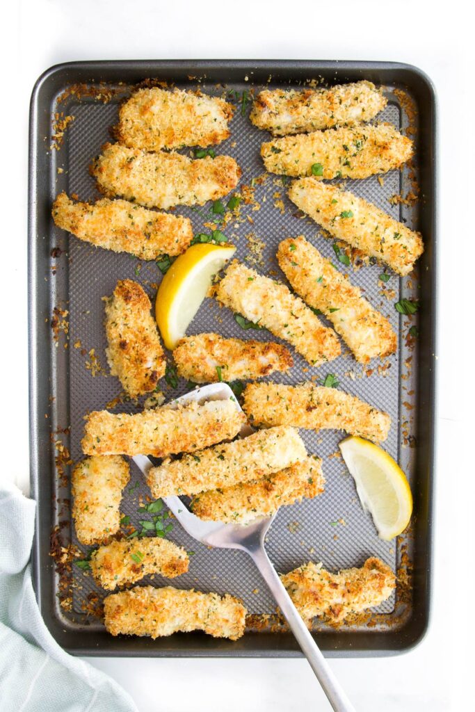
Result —
[[[432, 624], [417, 649], [331, 661], [359, 711], [473, 708], [470, 679], [475, 475], [470, 346], [475, 275], [474, 32], [461, 1], [167, 3], [10, 0], [3, 4], [1, 476], [28, 487], [26, 187], [28, 100], [53, 64], [80, 59], [360, 59], [412, 63], [439, 99], [439, 404]], [[423, 127], [422, 127], [423, 130]], [[471, 430], [472, 429], [472, 430]], [[464, 543], [468, 543], [466, 548]], [[471, 654], [473, 656], [473, 653]], [[303, 660], [90, 659], [140, 712], [327, 710]]]

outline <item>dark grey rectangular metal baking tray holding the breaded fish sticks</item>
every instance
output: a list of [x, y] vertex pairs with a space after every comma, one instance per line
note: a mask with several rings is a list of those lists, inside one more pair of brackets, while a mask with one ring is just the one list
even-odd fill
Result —
[[[170, 538], [194, 550], [187, 575], [173, 581], [178, 587], [230, 592], [244, 599], [251, 617], [246, 634], [236, 642], [204, 634], [172, 637], [114, 638], [100, 619], [90, 614], [100, 602], [100, 592], [88, 575], [68, 565], [68, 547], [77, 544], [69, 511], [71, 461], [80, 459], [83, 416], [118, 397], [120, 383], [110, 377], [105, 359], [103, 295], [112, 293], [120, 278], [136, 279], [153, 298], [161, 274], [155, 263], [137, 261], [124, 254], [95, 250], [58, 230], [51, 220], [51, 202], [58, 192], [76, 193], [80, 199], [98, 197], [88, 174], [90, 160], [109, 140], [118, 103], [133, 85], [147, 79], [165, 81], [180, 88], [196, 88], [221, 95], [224, 90], [242, 93], [271, 87], [304, 86], [313, 80], [332, 85], [367, 79], [383, 85], [389, 104], [378, 119], [387, 119], [416, 142], [413, 169], [393, 171], [380, 182], [377, 177], [346, 181], [349, 189], [381, 206], [397, 219], [422, 231], [425, 251], [417, 270], [407, 278], [392, 276], [377, 285], [380, 266], [366, 265], [350, 273], [373, 304], [387, 314], [397, 329], [396, 355], [363, 368], [345, 353], [319, 370], [295, 357], [289, 374], [276, 381], [301, 382], [312, 375], [338, 376], [340, 386], [367, 399], [392, 416], [385, 446], [407, 472], [414, 495], [414, 516], [409, 532], [392, 543], [377, 538], [369, 515], [362, 512], [352, 479], [338, 457], [343, 434], [301, 431], [308, 450], [323, 457], [327, 478], [323, 496], [291, 508], [283, 508], [268, 535], [267, 548], [279, 571], [285, 572], [308, 560], [325, 567], [361, 565], [377, 555], [400, 575], [396, 595], [376, 612], [338, 629], [315, 623], [318, 644], [329, 656], [371, 656], [407, 650], [427, 629], [431, 580], [432, 494], [434, 488], [434, 358], [435, 348], [435, 251], [436, 251], [436, 108], [430, 80], [417, 68], [397, 63], [338, 61], [105, 61], [67, 63], [46, 71], [37, 81], [31, 99], [29, 169], [29, 333], [31, 482], [38, 503], [33, 547], [33, 582], [38, 604], [56, 640], [68, 651], [85, 655], [122, 656], [299, 656], [293, 636], [276, 624], [275, 604], [240, 552], [208, 550], [190, 540], [175, 524]], [[240, 186], [254, 195], [241, 203], [243, 221], [228, 226], [237, 256], [259, 271], [282, 278], [275, 261], [278, 241], [304, 234], [329, 258], [333, 241], [319, 236], [318, 226], [302, 218], [286, 197], [286, 185], [277, 176], [259, 181], [264, 173], [259, 146], [268, 134], [253, 127], [249, 105], [236, 110], [231, 137], [216, 152], [236, 157], [243, 169]], [[67, 117], [73, 120], [68, 122]], [[389, 199], [419, 185], [419, 199]], [[254, 180], [253, 180], [254, 179]], [[256, 179], [258, 179], [256, 181]], [[381, 184], [382, 183], [382, 184]], [[239, 187], [238, 187], [239, 189]], [[209, 206], [197, 211], [179, 208], [192, 219], [195, 233], [209, 219]], [[421, 308], [415, 317], [397, 314], [394, 302], [417, 298]], [[58, 311], [61, 310], [61, 311]], [[55, 312], [56, 310], [56, 312]], [[65, 312], [68, 312], [67, 314]], [[51, 328], [52, 322], [55, 328]], [[407, 338], [416, 325], [419, 335]], [[268, 339], [266, 331], [243, 332], [231, 313], [206, 300], [189, 333], [219, 331], [226, 336]], [[100, 365], [105, 368], [100, 368]], [[370, 372], [370, 370], [373, 370]], [[186, 382], [176, 389], [165, 385], [167, 399], [186, 392]], [[140, 404], [122, 402], [115, 411], [132, 412]], [[131, 481], [121, 511], [136, 523], [140, 497], [147, 495], [140, 474], [131, 466]], [[135, 483], [138, 483], [137, 488]], [[50, 555], [51, 533], [56, 553], [65, 550], [65, 562]], [[82, 548], [87, 551], [88, 548]], [[61, 559], [61, 556], [59, 557]], [[147, 580], [145, 580], [147, 582]], [[167, 580], [155, 577], [155, 585]], [[85, 612], [87, 609], [88, 612]]]

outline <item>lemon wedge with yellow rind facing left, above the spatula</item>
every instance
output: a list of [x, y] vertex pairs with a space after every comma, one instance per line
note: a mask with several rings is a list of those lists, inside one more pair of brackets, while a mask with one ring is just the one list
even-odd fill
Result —
[[192, 245], [169, 268], [155, 302], [155, 318], [167, 349], [174, 349], [184, 337], [213, 276], [235, 252], [235, 247]]

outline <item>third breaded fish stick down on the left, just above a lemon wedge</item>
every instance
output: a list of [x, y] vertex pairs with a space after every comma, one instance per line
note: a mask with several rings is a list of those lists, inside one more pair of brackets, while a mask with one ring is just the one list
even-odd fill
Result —
[[141, 260], [155, 260], [165, 253], [179, 255], [193, 239], [189, 218], [147, 210], [127, 200], [79, 203], [60, 193], [51, 214], [58, 227], [80, 240]]

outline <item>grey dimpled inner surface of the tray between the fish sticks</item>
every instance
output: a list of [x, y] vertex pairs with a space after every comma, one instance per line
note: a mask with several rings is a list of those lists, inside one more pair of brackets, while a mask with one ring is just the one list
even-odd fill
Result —
[[[242, 85], [231, 85], [229, 88], [241, 93], [249, 86], [242, 83]], [[206, 85], [204, 90], [219, 95], [223, 92], [222, 88], [217, 90], [214, 86]], [[256, 87], [256, 92], [258, 90], [259, 87]], [[377, 119], [387, 120], [399, 128], [404, 128], [407, 126], [407, 119], [397, 97], [392, 93], [392, 87], [387, 87], [386, 90], [389, 105]], [[93, 99], [83, 99], [80, 102], [70, 100], [67, 113], [73, 115], [74, 120], [68, 127], [61, 150], [53, 152], [52, 155], [54, 171], [52, 192], [56, 194], [65, 189], [68, 194], [78, 194], [81, 200], [92, 200], [98, 197], [98, 192], [93, 179], [88, 174], [88, 165], [90, 160], [100, 152], [101, 145], [110, 140], [109, 130], [116, 122], [118, 103], [116, 100], [107, 104]], [[243, 175], [240, 186], [243, 184], [249, 186], [251, 179], [263, 175], [259, 147], [261, 142], [268, 140], [269, 136], [266, 132], [252, 126], [248, 115], [249, 107], [245, 116], [241, 116], [238, 108], [231, 122], [231, 137], [216, 147], [216, 153], [235, 157], [241, 166]], [[58, 168], [63, 169], [63, 172], [58, 173]], [[382, 182], [378, 181], [377, 177], [370, 177], [361, 181], [348, 180], [345, 185], [347, 189], [380, 206], [396, 219], [417, 228], [417, 205], [409, 208], [404, 205], [392, 205], [389, 202], [392, 195], [407, 193], [409, 177], [406, 169], [403, 172], [392, 171], [386, 174]], [[324, 256], [336, 263], [333, 241], [324, 239], [319, 233], [318, 226], [309, 218], [296, 215], [296, 206], [286, 197], [286, 185], [280, 177], [268, 174], [263, 184], [256, 184], [254, 200], [255, 203], [249, 205], [244, 204], [244, 201], [241, 202], [243, 219], [239, 222], [232, 221], [224, 229], [229, 241], [237, 247], [236, 257], [239, 260], [255, 267], [261, 273], [270, 273], [274, 278], [285, 282], [275, 258], [278, 242], [288, 236], [303, 234]], [[256, 209], [256, 204], [259, 204], [259, 209]], [[211, 204], [197, 210], [179, 207], [177, 213], [192, 219], [194, 234], [197, 234], [209, 232], [209, 229], [204, 227], [204, 223], [216, 217], [212, 216], [210, 209]], [[257, 239], [263, 243], [262, 258], [259, 263], [256, 263], [256, 254], [251, 251], [249, 238], [251, 241]], [[156, 285], [160, 283], [162, 275], [153, 262], [142, 262], [131, 256], [93, 248], [73, 236], [67, 237], [53, 225], [51, 244], [66, 248], [68, 255], [67, 261], [62, 258], [63, 261], [60, 259], [57, 263], [58, 271], [63, 270], [65, 273], [66, 270], [68, 271], [68, 291], [61, 293], [61, 289], [58, 289], [55, 298], [56, 304], [62, 306], [66, 301], [68, 302], [66, 308], [69, 310], [69, 347], [66, 355], [61, 352], [58, 357], [63, 360], [68, 371], [68, 375], [66, 374], [64, 378], [69, 388], [68, 424], [71, 426], [71, 457], [73, 461], [78, 461], [82, 456], [80, 439], [83, 435], [85, 413], [106, 407], [106, 404], [121, 392], [118, 379], [108, 373], [102, 298], [113, 292], [118, 279], [131, 278], [144, 286], [153, 302]], [[350, 280], [362, 288], [365, 297], [372, 305], [390, 318], [393, 328], [397, 331], [399, 337], [397, 354], [384, 360], [389, 362], [390, 367], [381, 374], [377, 370], [377, 365], [381, 361], [372, 362], [369, 367], [362, 367], [355, 362], [342, 344], [342, 355], [338, 360], [320, 369], [310, 367], [293, 352], [293, 369], [286, 375], [274, 375], [271, 379], [276, 382], [298, 383], [317, 375], [323, 382], [328, 373], [333, 373], [338, 376], [341, 389], [389, 412], [392, 427], [385, 448], [392, 456], [399, 459], [411, 481], [413, 474], [411, 453], [409, 449], [402, 447], [404, 441], [402, 429], [406, 441], [408, 434], [414, 435], [414, 426], [409, 419], [407, 404], [414, 409], [417, 404], [414, 402], [414, 395], [409, 396], [407, 392], [414, 390], [415, 369], [408, 372], [404, 366], [408, 356], [404, 338], [409, 328], [409, 320], [400, 317], [394, 308], [394, 303], [402, 295], [410, 296], [415, 293], [416, 279], [414, 274], [409, 278], [401, 279], [391, 273], [390, 281], [385, 285], [386, 290], [392, 290], [391, 298], [388, 299], [382, 294], [381, 286], [378, 285], [378, 275], [382, 272], [382, 266], [366, 265], [354, 271], [352, 266], [346, 267], [338, 263], [338, 269], [349, 274]], [[412, 318], [410, 324], [417, 324], [417, 319]], [[205, 300], [188, 333], [204, 331], [216, 331], [224, 336], [274, 340], [266, 330], [241, 330], [232, 313], [225, 308], [220, 308], [218, 303], [211, 299]], [[78, 347], [79, 342], [80, 347]], [[60, 347], [61, 343], [60, 338]], [[91, 349], [95, 350], [95, 356], [102, 366], [102, 370], [95, 377], [86, 368], [86, 363], [90, 362], [88, 353]], [[87, 352], [86, 355], [84, 350]], [[410, 355], [414, 365], [417, 353], [413, 351]], [[367, 375], [368, 369], [373, 370], [370, 375]], [[403, 380], [401, 380], [402, 374]], [[162, 386], [167, 399], [177, 397], [189, 390], [189, 385], [184, 380], [179, 382], [176, 389], [170, 389], [165, 381], [162, 381]], [[139, 404], [120, 404], [115, 408], [115, 412], [133, 412], [140, 409], [142, 402], [143, 399]], [[406, 405], [403, 405], [403, 402]], [[66, 423], [58, 424], [66, 425]], [[328, 569], [338, 570], [343, 567], [362, 565], [365, 558], [372, 555], [381, 557], [395, 570], [400, 564], [400, 541], [387, 543], [377, 537], [370, 515], [362, 511], [353, 480], [346, 471], [343, 461], [338, 456], [334, 456], [338, 451], [338, 442], [344, 434], [335, 431], [322, 431], [320, 434], [301, 431], [301, 435], [309, 453], [323, 457], [323, 471], [327, 483], [322, 496], [291, 508], [283, 508], [278, 513], [268, 534], [267, 543], [268, 553], [277, 570], [286, 572], [308, 560], [322, 561]], [[140, 485], [130, 491], [136, 482]], [[140, 506], [140, 499], [145, 498], [149, 492], [133, 464], [131, 464], [130, 484], [124, 494], [121, 511], [130, 515], [131, 522], [139, 527], [138, 520], [142, 518], [142, 514], [137, 512], [137, 508]], [[244, 600], [251, 614], [268, 614], [275, 610], [275, 604], [268, 595], [259, 573], [246, 555], [229, 550], [208, 550], [189, 538], [177, 523], [174, 523], [169, 538], [184, 545], [187, 550], [194, 551], [189, 572], [173, 580], [172, 585], [182, 588], [196, 587], [199, 590], [213, 590], [219, 593], [230, 592]], [[73, 541], [77, 543], [74, 535]], [[88, 548], [83, 547], [83, 550], [87, 552]], [[92, 577], [83, 574], [77, 567], [73, 567], [73, 574], [73, 612], [70, 615], [71, 619], [80, 622], [87, 596], [97, 588]], [[143, 581], [143, 583], [147, 582], [149, 582], [147, 579]], [[159, 576], [154, 577], [152, 582], [157, 586], [169, 584], [168, 580]], [[102, 596], [103, 592], [100, 592], [100, 595]], [[393, 596], [377, 609], [377, 612], [386, 615], [384, 618], [380, 617], [371, 628], [375, 634], [392, 626], [391, 614], [394, 610], [395, 597]], [[102, 627], [100, 622], [89, 619], [88, 629], [95, 630], [100, 627]]]

